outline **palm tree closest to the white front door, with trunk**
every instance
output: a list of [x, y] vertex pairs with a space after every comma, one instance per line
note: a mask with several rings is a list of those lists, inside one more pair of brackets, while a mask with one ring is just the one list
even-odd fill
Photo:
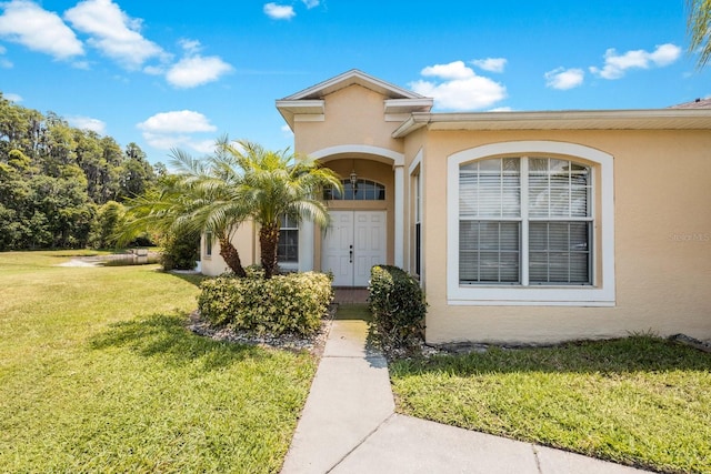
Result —
[[333, 171], [320, 168], [316, 160], [289, 154], [287, 150], [273, 152], [249, 141], [233, 144], [227, 140], [219, 147], [243, 170], [239, 193], [250, 209], [250, 218], [260, 226], [260, 260], [269, 279], [277, 271], [281, 218], [286, 215], [297, 222], [308, 219], [327, 229], [330, 215], [319, 198], [326, 186], [342, 191], [340, 179]]

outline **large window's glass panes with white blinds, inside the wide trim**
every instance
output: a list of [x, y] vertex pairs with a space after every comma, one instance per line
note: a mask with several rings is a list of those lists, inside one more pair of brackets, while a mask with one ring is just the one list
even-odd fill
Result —
[[591, 170], [495, 158], [460, 167], [459, 274], [471, 284], [591, 284]]

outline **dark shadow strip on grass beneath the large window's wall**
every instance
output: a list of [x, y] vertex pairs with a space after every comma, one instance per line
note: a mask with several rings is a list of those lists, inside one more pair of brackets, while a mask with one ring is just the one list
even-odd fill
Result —
[[550, 347], [489, 347], [484, 353], [399, 361], [401, 375], [447, 372], [453, 375], [492, 373], [601, 373], [711, 371], [711, 354], [650, 335], [610, 341], [579, 341]]

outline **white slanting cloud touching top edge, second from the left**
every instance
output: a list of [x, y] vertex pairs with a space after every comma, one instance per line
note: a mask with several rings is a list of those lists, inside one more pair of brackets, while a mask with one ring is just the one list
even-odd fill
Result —
[[77, 30], [90, 34], [89, 44], [128, 69], [168, 54], [140, 33], [141, 20], [129, 18], [111, 0], [84, 0], [64, 12]]

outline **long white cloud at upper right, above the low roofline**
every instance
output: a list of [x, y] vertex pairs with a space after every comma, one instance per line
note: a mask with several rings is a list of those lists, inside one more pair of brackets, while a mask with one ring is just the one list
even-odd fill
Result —
[[618, 54], [614, 48], [610, 48], [604, 53], [602, 69], [593, 65], [590, 72], [603, 79], [620, 79], [628, 69], [663, 68], [677, 61], [680, 56], [681, 48], [671, 43], [658, 46], [652, 52], [640, 49], [623, 54]]

